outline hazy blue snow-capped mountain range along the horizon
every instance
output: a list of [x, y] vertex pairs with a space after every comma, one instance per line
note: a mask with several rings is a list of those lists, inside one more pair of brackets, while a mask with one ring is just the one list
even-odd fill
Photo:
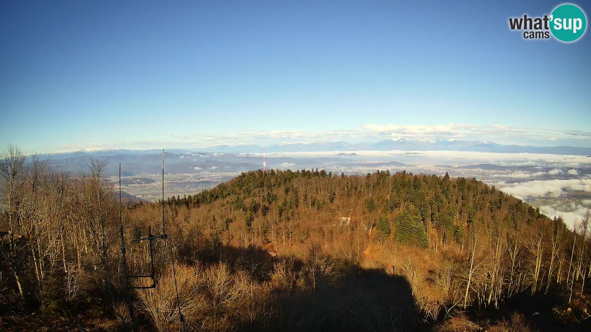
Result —
[[501, 153], [535, 153], [562, 155], [589, 155], [591, 148], [580, 147], [537, 147], [534, 145], [502, 145], [480, 141], [455, 141], [432, 139], [391, 138], [379, 142], [298, 142], [262, 147], [255, 144], [216, 144], [203, 149], [209, 152], [254, 153], [262, 152], [312, 152], [312, 151], [359, 151], [359, 150], [403, 150], [403, 151], [474, 151]]

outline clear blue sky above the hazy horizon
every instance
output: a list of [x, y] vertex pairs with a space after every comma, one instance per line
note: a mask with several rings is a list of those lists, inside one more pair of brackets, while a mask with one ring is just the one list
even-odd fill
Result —
[[0, 144], [591, 147], [589, 33], [508, 27], [561, 2], [155, 2], [2, 2]]

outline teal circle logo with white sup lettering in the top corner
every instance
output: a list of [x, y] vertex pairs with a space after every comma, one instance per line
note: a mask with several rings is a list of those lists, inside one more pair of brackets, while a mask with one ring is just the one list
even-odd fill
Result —
[[560, 5], [550, 15], [550, 31], [561, 41], [575, 41], [585, 32], [587, 18], [575, 5]]

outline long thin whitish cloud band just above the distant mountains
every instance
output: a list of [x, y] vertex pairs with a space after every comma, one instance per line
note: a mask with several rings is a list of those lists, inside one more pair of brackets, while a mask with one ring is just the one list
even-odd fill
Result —
[[[452, 141], [455, 139], [473, 140], [483, 142], [496, 142], [499, 144], [528, 144], [532, 141], [540, 141], [541, 145], [573, 145], [573, 141], [585, 141], [584, 145], [589, 146], [591, 132], [576, 130], [554, 130], [540, 128], [519, 128], [504, 125], [471, 125], [467, 123], [443, 123], [436, 125], [400, 125], [400, 124], [365, 124], [355, 129], [332, 129], [327, 131], [239, 131], [226, 132], [224, 134], [204, 133], [199, 135], [179, 132], [170, 135], [166, 142], [170, 148], [191, 148], [202, 149], [224, 146], [238, 146], [240, 142], [251, 142], [261, 144], [262, 140], [272, 140], [271, 144], [279, 144], [282, 141], [341, 141], [352, 139], [357, 142], [371, 142], [384, 139], [385, 135], [403, 136], [410, 138], [429, 138], [440, 141]], [[112, 143], [108, 147], [103, 144], [90, 144], [90, 146], [67, 145], [54, 147], [51, 150], [59, 149], [65, 151], [89, 151], [101, 149], [150, 149], [154, 144], [161, 144], [161, 141], [121, 141]], [[356, 142], [351, 142], [356, 143]], [[582, 143], [583, 144], [583, 143]], [[245, 144], [243, 144], [245, 145]], [[268, 145], [268, 144], [261, 144]], [[50, 150], [50, 151], [51, 151]], [[34, 151], [44, 152], [44, 151]], [[573, 166], [566, 166], [576, 168]]]

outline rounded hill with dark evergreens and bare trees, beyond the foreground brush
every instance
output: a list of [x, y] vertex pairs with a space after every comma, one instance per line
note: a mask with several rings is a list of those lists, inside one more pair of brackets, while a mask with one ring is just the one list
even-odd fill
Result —
[[[367, 232], [376, 229], [380, 242], [393, 237], [422, 248], [452, 242], [462, 246], [467, 230], [492, 223], [517, 230], [537, 220], [551, 221], [538, 209], [475, 178], [405, 171], [376, 171], [365, 177], [317, 169], [253, 171], [195, 196], [168, 198], [167, 204], [210, 211], [209, 217], [221, 223], [216, 225], [219, 230], [233, 222], [255, 227], [262, 242], [272, 240], [273, 226], [280, 232], [289, 229], [290, 236], [295, 234], [291, 240], [302, 243], [306, 235], [298, 230], [304, 224], [330, 225], [340, 217], [350, 217], [352, 226]], [[557, 222], [556, 227], [566, 227]]]

